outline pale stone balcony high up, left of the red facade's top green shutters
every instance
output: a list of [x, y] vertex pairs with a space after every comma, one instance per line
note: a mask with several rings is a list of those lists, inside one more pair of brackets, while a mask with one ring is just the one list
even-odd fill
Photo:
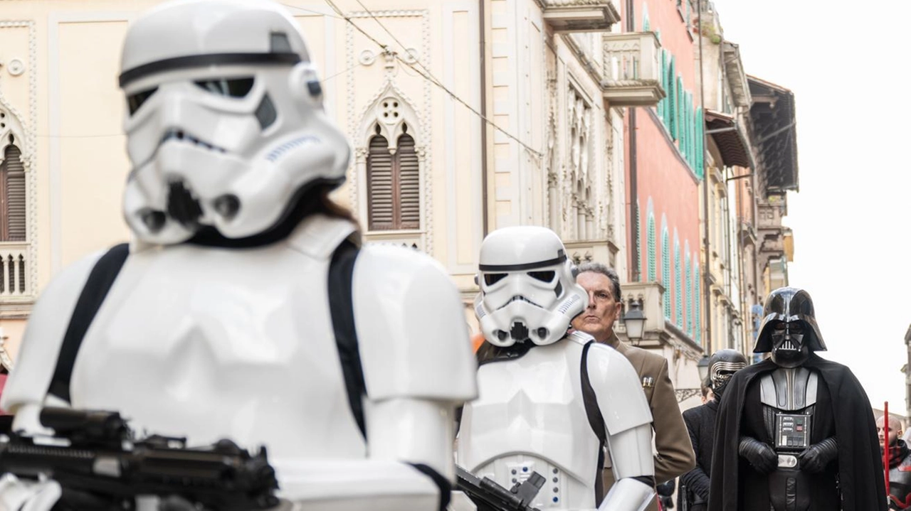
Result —
[[666, 95], [653, 32], [604, 34], [604, 99], [611, 106], [654, 106]]

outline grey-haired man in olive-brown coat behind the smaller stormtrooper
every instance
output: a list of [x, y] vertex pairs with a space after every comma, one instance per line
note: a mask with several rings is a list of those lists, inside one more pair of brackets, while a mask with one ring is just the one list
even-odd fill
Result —
[[[588, 291], [589, 306], [573, 320], [573, 328], [616, 349], [630, 360], [639, 374], [642, 390], [651, 407], [651, 426], [655, 431], [655, 449], [658, 451], [655, 455], [655, 482], [661, 484], [689, 472], [696, 466], [696, 456], [670, 383], [667, 359], [630, 346], [614, 334], [614, 322], [622, 309], [617, 272], [600, 263], [586, 263], [578, 267], [576, 282]], [[606, 465], [609, 465], [609, 456], [605, 459]], [[614, 484], [609, 466], [604, 468], [603, 476], [604, 491], [607, 493]], [[658, 505], [652, 501], [648, 509], [657, 511]]]

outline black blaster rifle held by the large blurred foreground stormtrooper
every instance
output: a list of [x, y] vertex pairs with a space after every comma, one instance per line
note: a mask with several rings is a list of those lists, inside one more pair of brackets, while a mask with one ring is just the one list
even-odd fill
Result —
[[230, 440], [188, 448], [185, 438], [134, 440], [117, 412], [42, 409], [51, 442], [0, 436], [0, 473], [46, 475], [63, 487], [55, 509], [133, 509], [136, 496], [177, 499], [199, 509], [240, 511], [277, 506], [278, 482], [264, 447], [255, 456]]

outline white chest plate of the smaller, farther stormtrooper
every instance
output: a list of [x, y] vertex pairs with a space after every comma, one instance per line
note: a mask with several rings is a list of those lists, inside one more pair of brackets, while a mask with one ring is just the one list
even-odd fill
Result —
[[582, 400], [581, 351], [563, 340], [481, 366], [479, 397], [462, 416], [458, 463], [507, 488], [533, 472], [545, 476], [539, 508], [595, 507], [599, 440]]

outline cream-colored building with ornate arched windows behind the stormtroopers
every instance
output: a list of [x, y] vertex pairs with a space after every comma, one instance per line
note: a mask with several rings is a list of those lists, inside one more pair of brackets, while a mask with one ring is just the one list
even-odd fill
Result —
[[[6, 174], [25, 189], [14, 214], [26, 235], [0, 241], [0, 328], [14, 354], [56, 272], [128, 239], [118, 59], [130, 20], [157, 3], [0, 2], [0, 150], [21, 152], [0, 158], [13, 168], [18, 157]], [[479, 245], [496, 227], [551, 226], [578, 261], [626, 274], [619, 107], [653, 105], [660, 86], [653, 36], [606, 34], [619, 5], [335, 0], [340, 15], [330, 2], [283, 3], [353, 145], [336, 197], [367, 240], [433, 255], [469, 318]]]

